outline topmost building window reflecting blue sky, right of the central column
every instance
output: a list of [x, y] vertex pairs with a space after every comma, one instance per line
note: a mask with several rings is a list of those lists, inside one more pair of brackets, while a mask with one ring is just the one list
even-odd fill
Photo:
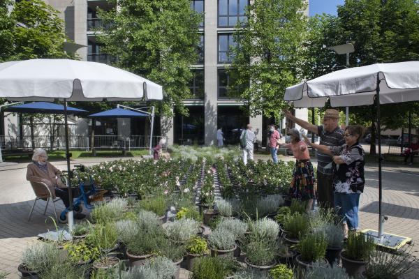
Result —
[[219, 0], [218, 5], [218, 26], [235, 27], [238, 21], [242, 25], [246, 24], [246, 7], [248, 0]]

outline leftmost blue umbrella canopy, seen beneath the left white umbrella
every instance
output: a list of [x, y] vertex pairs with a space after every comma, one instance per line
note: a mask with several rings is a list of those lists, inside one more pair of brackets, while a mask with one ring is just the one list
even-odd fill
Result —
[[[35, 102], [23, 105], [13, 105], [5, 110], [6, 112], [43, 113], [43, 114], [64, 114], [64, 105], [47, 102]], [[75, 107], [67, 107], [68, 114], [82, 114], [87, 110], [80, 110]]]

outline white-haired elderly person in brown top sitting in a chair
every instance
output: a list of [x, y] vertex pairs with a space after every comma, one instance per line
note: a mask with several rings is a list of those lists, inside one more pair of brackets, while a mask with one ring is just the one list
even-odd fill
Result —
[[[61, 171], [47, 162], [47, 152], [44, 149], [36, 149], [32, 160], [34, 163], [28, 165], [27, 181], [35, 183], [45, 183], [50, 188], [52, 195], [60, 197], [66, 208], [70, 206], [68, 200], [68, 188], [61, 182]], [[76, 195], [75, 188], [72, 189], [73, 197]], [[83, 219], [86, 217], [82, 213], [75, 213], [74, 218]]]

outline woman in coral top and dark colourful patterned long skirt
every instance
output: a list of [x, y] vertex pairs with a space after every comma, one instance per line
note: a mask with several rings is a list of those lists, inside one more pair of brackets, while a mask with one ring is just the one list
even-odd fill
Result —
[[291, 137], [289, 144], [279, 144], [293, 151], [295, 167], [293, 169], [293, 180], [290, 186], [292, 199], [300, 199], [307, 202], [307, 209], [311, 209], [314, 199], [314, 168], [310, 162], [309, 149], [302, 140], [300, 132], [292, 128], [287, 135]]

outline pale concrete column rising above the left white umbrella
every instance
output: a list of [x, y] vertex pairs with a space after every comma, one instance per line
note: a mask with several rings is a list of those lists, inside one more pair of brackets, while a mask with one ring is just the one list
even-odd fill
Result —
[[[74, 0], [74, 43], [87, 45], [87, 1]], [[82, 47], [77, 54], [87, 61], [87, 47]]]

